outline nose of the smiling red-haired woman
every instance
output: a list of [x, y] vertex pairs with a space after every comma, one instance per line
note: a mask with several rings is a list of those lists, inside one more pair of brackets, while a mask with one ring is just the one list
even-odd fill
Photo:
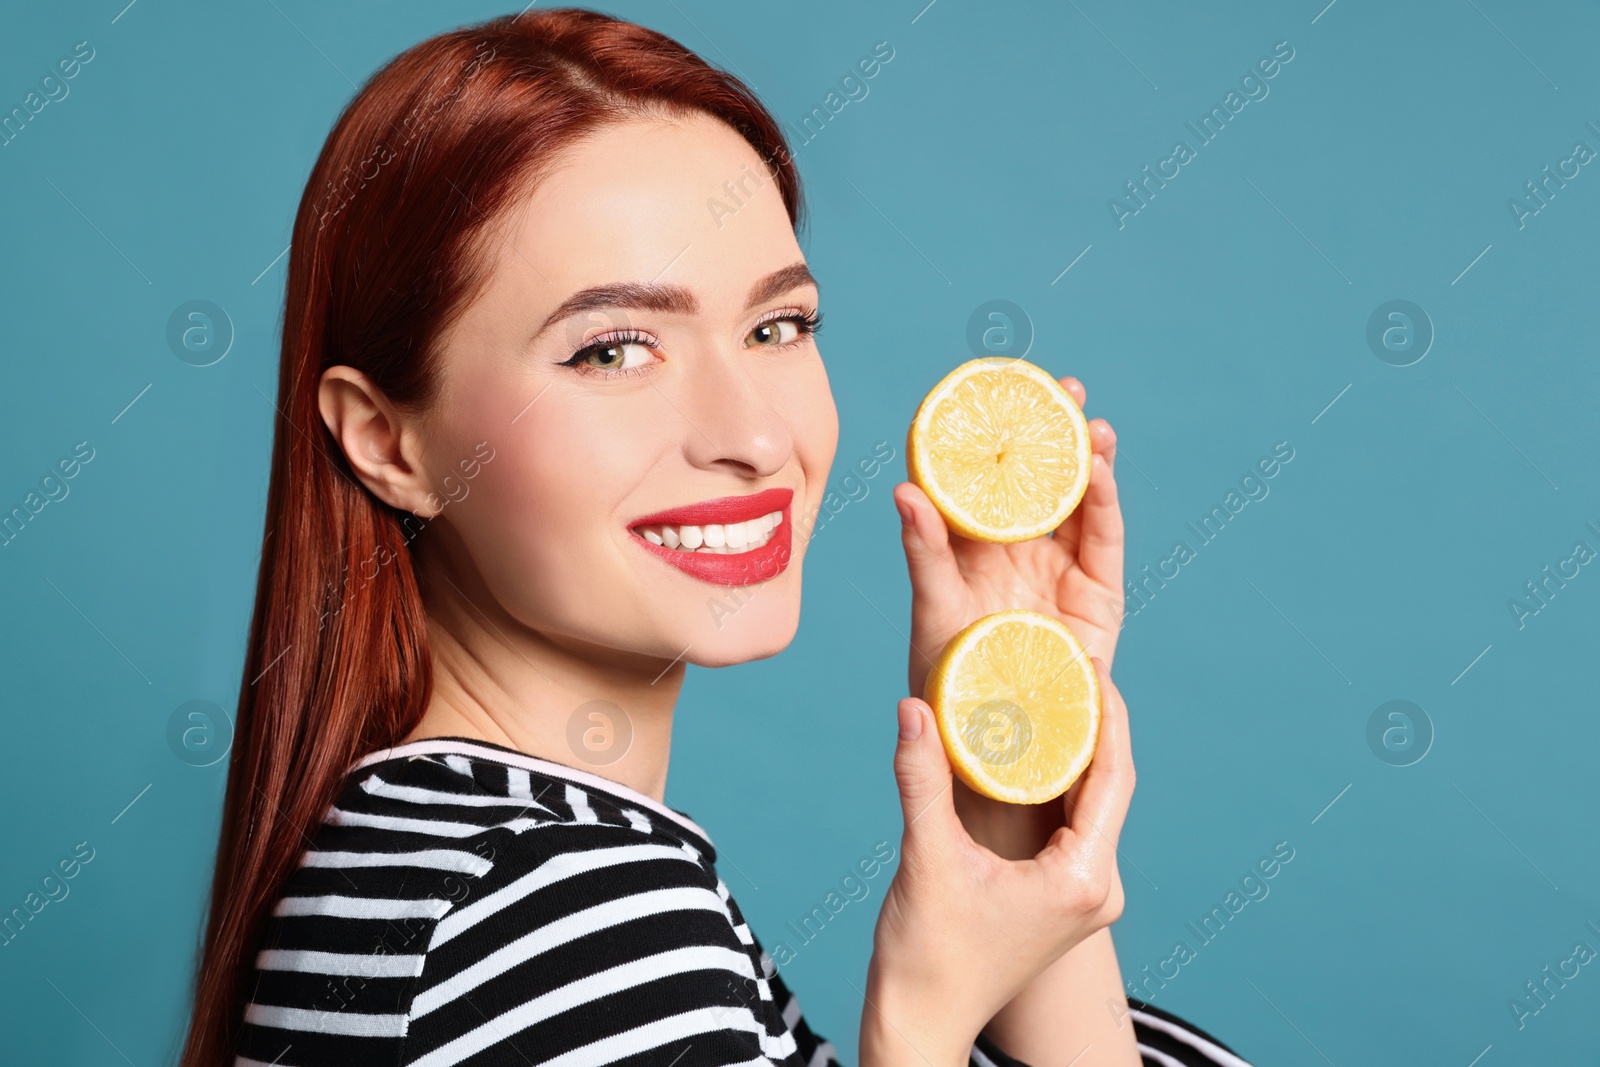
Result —
[[[702, 470], [733, 470], [742, 478], [768, 478], [794, 453], [781, 400], [754, 370], [760, 355], [734, 349], [688, 360], [669, 397], [683, 416], [683, 454]], [[669, 387], [670, 389], [670, 387]]]

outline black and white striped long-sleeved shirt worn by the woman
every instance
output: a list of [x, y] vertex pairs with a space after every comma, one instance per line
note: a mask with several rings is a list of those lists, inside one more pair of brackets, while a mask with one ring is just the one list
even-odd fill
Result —
[[[277, 901], [235, 1067], [840, 1067], [706, 830], [459, 737], [358, 761]], [[1146, 1064], [1248, 1067], [1139, 1001]], [[979, 1035], [971, 1067], [1027, 1067]]]

